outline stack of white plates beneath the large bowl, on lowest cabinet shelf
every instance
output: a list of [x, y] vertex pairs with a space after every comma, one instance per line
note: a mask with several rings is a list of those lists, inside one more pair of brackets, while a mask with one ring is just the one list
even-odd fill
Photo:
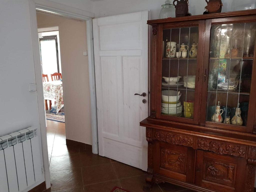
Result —
[[[163, 114], [178, 116], [178, 117], [182, 115], [182, 105], [180, 104], [180, 101], [178, 101], [177, 103], [162, 101], [161, 105], [162, 105], [161, 112]], [[176, 112], [177, 112], [177, 115], [176, 115]]]

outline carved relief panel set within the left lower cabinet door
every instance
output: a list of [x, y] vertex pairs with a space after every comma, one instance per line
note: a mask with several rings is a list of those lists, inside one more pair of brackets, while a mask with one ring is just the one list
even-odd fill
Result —
[[161, 147], [160, 155], [160, 167], [186, 174], [186, 153]]

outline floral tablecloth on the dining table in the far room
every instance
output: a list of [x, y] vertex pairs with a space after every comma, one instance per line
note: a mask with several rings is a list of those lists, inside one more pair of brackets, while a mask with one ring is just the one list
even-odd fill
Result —
[[58, 111], [64, 106], [62, 81], [43, 82], [44, 99], [56, 101], [56, 109]]

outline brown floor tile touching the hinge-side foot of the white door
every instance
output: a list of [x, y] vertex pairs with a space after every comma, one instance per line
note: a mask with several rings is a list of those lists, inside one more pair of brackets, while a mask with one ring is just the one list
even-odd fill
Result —
[[81, 166], [91, 166], [91, 165], [110, 163], [109, 158], [93, 154], [90, 151], [85, 151], [84, 153], [80, 153], [80, 161], [81, 161]]

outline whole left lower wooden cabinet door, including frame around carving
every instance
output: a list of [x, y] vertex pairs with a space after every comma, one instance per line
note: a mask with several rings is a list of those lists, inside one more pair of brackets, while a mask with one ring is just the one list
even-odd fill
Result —
[[195, 152], [192, 148], [156, 141], [154, 151], [155, 173], [193, 183]]

